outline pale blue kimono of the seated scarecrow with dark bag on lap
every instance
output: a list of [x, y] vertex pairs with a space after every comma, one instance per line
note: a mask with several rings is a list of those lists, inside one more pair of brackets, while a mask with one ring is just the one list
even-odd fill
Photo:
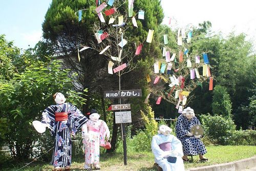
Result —
[[[162, 149], [159, 147], [159, 144], [170, 142], [172, 146], [172, 151], [176, 152], [177, 161], [176, 163], [169, 163], [167, 158], [163, 158]], [[158, 134], [153, 136], [151, 143], [152, 152], [155, 156], [155, 162], [163, 169], [163, 171], [170, 170], [179, 170], [184, 171], [184, 164], [182, 160], [183, 152], [182, 152], [182, 144], [178, 138], [173, 135], [163, 135]]]

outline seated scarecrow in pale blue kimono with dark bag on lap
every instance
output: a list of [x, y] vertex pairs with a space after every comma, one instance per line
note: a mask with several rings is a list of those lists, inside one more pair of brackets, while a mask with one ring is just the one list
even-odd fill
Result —
[[156, 166], [158, 170], [163, 171], [184, 171], [182, 144], [178, 138], [170, 134], [171, 132], [170, 127], [160, 125], [158, 135], [153, 136], [151, 148]]

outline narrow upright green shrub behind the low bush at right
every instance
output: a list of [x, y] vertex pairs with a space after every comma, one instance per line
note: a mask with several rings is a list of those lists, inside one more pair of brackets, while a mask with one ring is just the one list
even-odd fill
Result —
[[232, 110], [232, 102], [230, 96], [227, 93], [227, 89], [222, 86], [216, 86], [214, 88], [214, 96], [212, 99], [212, 113], [222, 115], [224, 117], [230, 117]]

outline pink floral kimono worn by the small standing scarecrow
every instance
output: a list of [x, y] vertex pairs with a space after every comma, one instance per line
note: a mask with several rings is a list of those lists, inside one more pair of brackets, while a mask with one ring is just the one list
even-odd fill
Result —
[[103, 120], [93, 121], [89, 119], [86, 123], [88, 130], [88, 141], [83, 139], [85, 164], [99, 164], [99, 146], [105, 144], [106, 133], [109, 132], [108, 125]]

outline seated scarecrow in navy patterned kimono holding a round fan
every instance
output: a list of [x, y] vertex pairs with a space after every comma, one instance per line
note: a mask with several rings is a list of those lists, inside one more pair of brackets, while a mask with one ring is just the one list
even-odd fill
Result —
[[200, 125], [200, 121], [195, 116], [194, 110], [188, 107], [182, 111], [176, 123], [176, 135], [183, 145], [184, 156], [182, 159], [183, 161], [189, 161], [188, 156], [199, 155], [200, 161], [208, 161], [204, 157], [206, 148], [200, 140], [201, 135], [193, 135], [190, 132], [194, 125]]

